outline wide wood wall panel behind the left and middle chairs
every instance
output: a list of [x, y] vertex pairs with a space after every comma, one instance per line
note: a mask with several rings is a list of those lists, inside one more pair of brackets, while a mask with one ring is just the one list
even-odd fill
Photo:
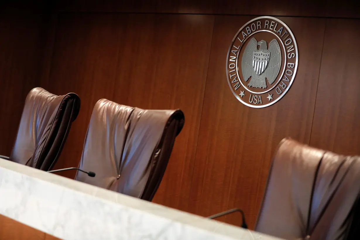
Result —
[[76, 92], [81, 110], [55, 168], [78, 165], [92, 109], [101, 98], [144, 109], [180, 108], [186, 127], [153, 201], [185, 209], [213, 20], [203, 15], [60, 14], [50, 77], [41, 87], [56, 94]]

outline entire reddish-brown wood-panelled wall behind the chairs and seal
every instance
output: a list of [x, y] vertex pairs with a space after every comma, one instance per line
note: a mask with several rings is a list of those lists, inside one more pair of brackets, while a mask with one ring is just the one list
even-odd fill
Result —
[[[283, 137], [360, 154], [360, 22], [299, 17], [358, 18], [358, 1], [76, 0], [53, 7], [44, 19], [28, 12], [0, 14], [0, 99], [10, 102], [0, 107], [0, 154], [10, 153], [25, 97], [35, 86], [54, 94], [76, 92], [82, 100], [55, 168], [78, 165], [100, 98], [180, 108], [185, 127], [154, 201], [203, 216], [239, 207], [250, 226]], [[283, 16], [299, 49], [291, 89], [263, 109], [235, 99], [225, 76], [229, 44], [256, 17], [249, 15]], [[239, 225], [240, 216], [220, 220]]]

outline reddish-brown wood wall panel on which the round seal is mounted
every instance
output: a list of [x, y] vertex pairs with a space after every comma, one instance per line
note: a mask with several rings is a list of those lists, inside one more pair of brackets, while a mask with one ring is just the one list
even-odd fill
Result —
[[[283, 99], [255, 109], [234, 97], [225, 75], [231, 39], [251, 18], [217, 16], [215, 20], [189, 206], [203, 216], [242, 208], [249, 226], [255, 223], [278, 143], [288, 136], [310, 141], [325, 28], [324, 19], [280, 18], [297, 40], [298, 73]], [[222, 220], [239, 225], [240, 214]]]

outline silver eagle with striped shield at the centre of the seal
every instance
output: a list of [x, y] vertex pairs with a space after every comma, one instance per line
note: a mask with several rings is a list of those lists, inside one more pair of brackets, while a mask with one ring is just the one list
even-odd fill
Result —
[[[257, 46], [260, 46], [257, 49]], [[266, 89], [266, 81], [272, 84], [280, 71], [281, 52], [278, 41], [271, 40], [269, 49], [264, 40], [258, 42], [252, 38], [246, 46], [241, 60], [241, 69], [244, 81], [248, 81], [249, 87], [260, 87]]]

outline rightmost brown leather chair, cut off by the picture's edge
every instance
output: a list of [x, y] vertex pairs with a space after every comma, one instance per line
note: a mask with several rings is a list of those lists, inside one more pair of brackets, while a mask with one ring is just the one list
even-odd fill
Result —
[[285, 139], [270, 168], [255, 230], [284, 239], [360, 239], [359, 193], [359, 157]]

